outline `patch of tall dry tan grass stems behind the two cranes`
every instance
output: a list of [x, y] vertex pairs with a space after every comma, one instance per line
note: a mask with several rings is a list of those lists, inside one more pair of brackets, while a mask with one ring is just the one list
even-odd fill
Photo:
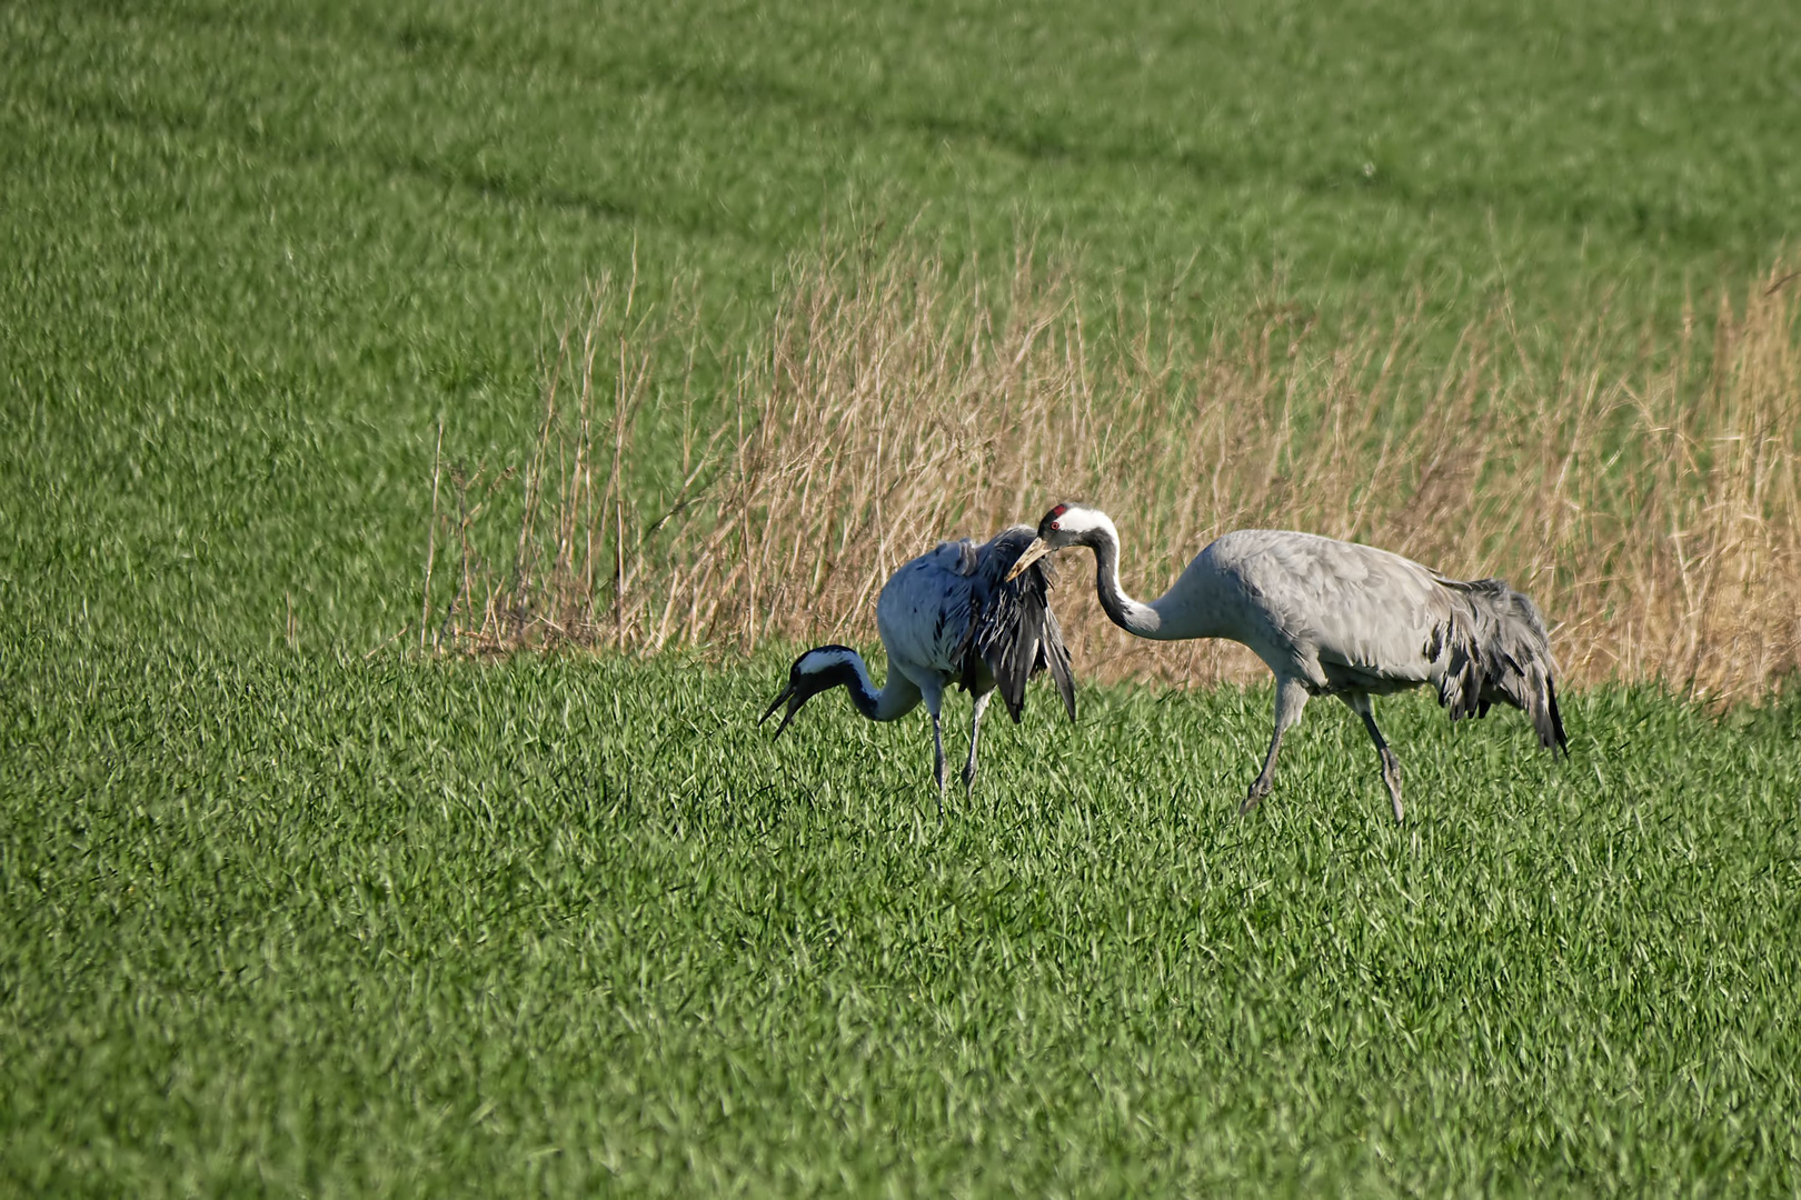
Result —
[[[1117, 518], [1142, 597], [1228, 529], [1309, 529], [1506, 576], [1576, 684], [1724, 702], [1801, 662], [1794, 277], [1722, 295], [1713, 322], [1682, 313], [1670, 345], [1597, 304], [1556, 333], [1558, 360], [1506, 302], [1461, 331], [1421, 299], [1333, 335], [1272, 302], [1196, 340], [1153, 304], [1086, 311], [1030, 250], [1005, 295], [969, 275], [906, 252], [801, 268], [708, 398], [693, 353], [668, 353], [697, 327], [598, 282], [517, 475], [452, 471], [434, 502], [434, 642], [873, 648], [899, 563], [1081, 497]], [[522, 491], [517, 525], [486, 529], [501, 488]], [[1082, 675], [1263, 673], [1232, 644], [1129, 639], [1090, 570], [1072, 563], [1057, 592]]]

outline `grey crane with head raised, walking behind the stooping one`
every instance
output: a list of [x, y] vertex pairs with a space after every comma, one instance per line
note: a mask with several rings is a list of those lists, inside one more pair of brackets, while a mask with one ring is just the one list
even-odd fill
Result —
[[1430, 684], [1452, 720], [1511, 703], [1538, 741], [1569, 752], [1551, 639], [1533, 601], [1504, 579], [1464, 583], [1372, 545], [1309, 533], [1239, 529], [1194, 556], [1149, 604], [1126, 596], [1118, 531], [1106, 513], [1059, 504], [1012, 570], [1068, 545], [1095, 552], [1095, 590], [1113, 624], [1138, 637], [1223, 637], [1248, 646], [1275, 675], [1275, 734], [1239, 811], [1270, 793], [1282, 734], [1308, 696], [1338, 696], [1363, 718], [1381, 781], [1401, 810], [1401, 763], [1376, 729], [1371, 696]]

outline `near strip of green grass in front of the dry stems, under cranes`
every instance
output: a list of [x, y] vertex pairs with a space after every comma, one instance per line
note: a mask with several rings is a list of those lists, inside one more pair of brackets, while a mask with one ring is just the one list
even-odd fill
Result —
[[[1788, 1193], [1794, 705], [1046, 696], [931, 811], [924, 718], [782, 664], [7, 680], [0, 1173], [34, 1195]], [[953, 752], [958, 752], [953, 739]]]

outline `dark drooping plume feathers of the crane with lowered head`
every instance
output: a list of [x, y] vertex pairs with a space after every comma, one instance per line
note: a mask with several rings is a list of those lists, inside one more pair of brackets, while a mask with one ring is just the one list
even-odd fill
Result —
[[[1014, 721], [1025, 709], [1027, 680], [1045, 669], [1057, 682], [1057, 693], [1073, 721], [1075, 680], [1070, 675], [1070, 651], [1063, 644], [1063, 630], [1050, 610], [1050, 585], [1055, 581], [1050, 563], [1039, 560], [1018, 579], [1007, 581], [1007, 572], [1036, 536], [1030, 525], [1014, 525], [982, 547], [967, 653], [971, 660], [980, 658], [994, 675], [994, 685]], [[974, 662], [969, 666], [974, 667]]]

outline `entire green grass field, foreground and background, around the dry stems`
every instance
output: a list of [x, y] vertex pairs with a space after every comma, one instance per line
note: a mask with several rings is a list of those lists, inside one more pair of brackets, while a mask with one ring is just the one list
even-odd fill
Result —
[[1801, 14], [1565, 9], [0, 9], [0, 1191], [1801, 1189], [1792, 691], [1390, 703], [1407, 829], [1336, 705], [1237, 820], [1264, 693], [1036, 694], [940, 824], [924, 718], [755, 727], [783, 648], [384, 646], [439, 416], [517, 461], [634, 254], [719, 356], [881, 223], [1196, 326], [1706, 315]]

